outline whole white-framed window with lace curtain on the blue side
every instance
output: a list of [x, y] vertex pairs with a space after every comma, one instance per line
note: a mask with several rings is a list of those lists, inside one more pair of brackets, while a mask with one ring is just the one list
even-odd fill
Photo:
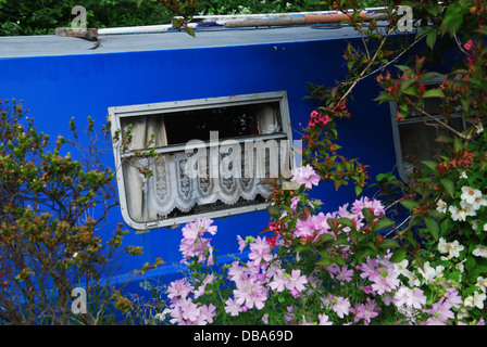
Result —
[[[118, 140], [122, 213], [135, 229], [263, 209], [270, 187], [260, 182], [294, 168], [286, 92], [110, 107], [109, 113]], [[150, 151], [157, 156], [147, 156]]]

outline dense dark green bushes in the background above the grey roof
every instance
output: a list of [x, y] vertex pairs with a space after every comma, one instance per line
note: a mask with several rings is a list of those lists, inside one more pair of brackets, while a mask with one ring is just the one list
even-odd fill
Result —
[[[198, 1], [196, 14], [250, 14], [327, 10], [321, 0], [205, 0]], [[374, 5], [378, 1], [363, 1]], [[88, 26], [155, 25], [171, 23], [170, 11], [158, 1], [136, 0], [0, 0], [0, 36], [53, 34], [70, 26], [71, 9], [86, 8]]]

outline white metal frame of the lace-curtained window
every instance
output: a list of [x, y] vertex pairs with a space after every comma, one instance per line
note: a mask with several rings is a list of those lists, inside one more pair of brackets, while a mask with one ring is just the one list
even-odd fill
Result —
[[[109, 107], [109, 117], [111, 121], [112, 137], [115, 137], [117, 132], [121, 133], [121, 118], [123, 117], [134, 117], [134, 116], [148, 116], [154, 114], [165, 114], [204, 108], [214, 108], [220, 106], [238, 106], [238, 105], [249, 105], [249, 104], [260, 104], [267, 102], [278, 102], [282, 120], [282, 131], [271, 134], [260, 134], [255, 137], [248, 137], [250, 141], [257, 140], [285, 140], [288, 141], [288, 153], [290, 158], [290, 169], [296, 167], [295, 151], [292, 146], [292, 128], [290, 123], [288, 98], [286, 91], [276, 92], [261, 92], [251, 94], [240, 94], [232, 97], [221, 97], [221, 98], [210, 98], [210, 99], [196, 99], [196, 100], [184, 100], [184, 101], [171, 101], [151, 104], [138, 104], [138, 105], [127, 105], [127, 106], [114, 106]], [[184, 151], [185, 145], [167, 145], [164, 147], [155, 149], [157, 153], [171, 153], [177, 151]], [[113, 146], [113, 153], [115, 157], [116, 167], [116, 182], [120, 194], [120, 204], [124, 221], [132, 228], [136, 229], [138, 232], [145, 232], [150, 229], [167, 227], [177, 228], [182, 223], [192, 221], [196, 216], [209, 217], [209, 218], [220, 218], [228, 217], [233, 215], [252, 213], [265, 209], [270, 203], [258, 203], [251, 206], [242, 207], [228, 207], [225, 209], [218, 209], [214, 211], [201, 213], [198, 215], [188, 215], [180, 217], [172, 217], [166, 219], [159, 219], [150, 222], [138, 222], [130, 218], [127, 208], [127, 200], [125, 193], [124, 177], [122, 170], [122, 162], [124, 154], [122, 150], [117, 146]]]

